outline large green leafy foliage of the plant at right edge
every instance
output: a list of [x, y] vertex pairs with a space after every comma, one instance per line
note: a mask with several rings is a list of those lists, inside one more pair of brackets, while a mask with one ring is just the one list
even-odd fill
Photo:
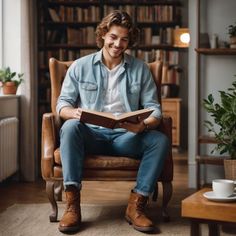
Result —
[[[212, 94], [203, 100], [205, 110], [214, 120], [214, 123], [209, 120], [204, 123], [219, 142], [212, 152], [214, 150], [220, 151], [220, 154], [228, 152], [231, 159], [236, 159], [236, 81], [227, 91], [218, 92], [220, 103], [215, 102]], [[219, 126], [219, 131], [215, 124]]]

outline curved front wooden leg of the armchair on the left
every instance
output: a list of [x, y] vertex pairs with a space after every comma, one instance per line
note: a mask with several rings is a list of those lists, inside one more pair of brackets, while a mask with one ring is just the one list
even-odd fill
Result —
[[50, 222], [56, 222], [57, 221], [57, 215], [58, 215], [58, 207], [57, 202], [55, 200], [55, 182], [54, 181], [46, 181], [46, 193], [48, 195], [49, 202], [52, 206], [52, 214], [49, 215]]

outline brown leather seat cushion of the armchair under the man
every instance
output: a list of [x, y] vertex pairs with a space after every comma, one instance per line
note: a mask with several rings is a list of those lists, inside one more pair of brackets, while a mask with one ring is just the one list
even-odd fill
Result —
[[[60, 149], [54, 152], [54, 161], [61, 165]], [[104, 155], [87, 155], [84, 162], [85, 169], [126, 169], [135, 170], [138, 168], [140, 161], [129, 157], [115, 157]]]

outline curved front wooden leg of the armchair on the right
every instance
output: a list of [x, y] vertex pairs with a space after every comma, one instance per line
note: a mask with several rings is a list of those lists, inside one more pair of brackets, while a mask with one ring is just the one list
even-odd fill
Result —
[[163, 199], [162, 199], [162, 216], [165, 222], [170, 221], [170, 216], [167, 212], [167, 205], [172, 197], [173, 186], [172, 182], [162, 182]]

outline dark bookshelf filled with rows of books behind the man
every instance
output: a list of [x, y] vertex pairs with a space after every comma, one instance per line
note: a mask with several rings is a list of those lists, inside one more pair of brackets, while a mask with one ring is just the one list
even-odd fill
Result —
[[96, 26], [115, 9], [127, 11], [141, 31], [140, 43], [130, 53], [146, 62], [164, 62], [163, 97], [173, 97], [170, 90], [179, 86], [181, 72], [179, 48], [173, 46], [173, 29], [181, 25], [181, 1], [43, 0], [37, 1], [37, 9], [39, 127], [42, 114], [51, 110], [49, 58], [75, 60], [97, 51]]

